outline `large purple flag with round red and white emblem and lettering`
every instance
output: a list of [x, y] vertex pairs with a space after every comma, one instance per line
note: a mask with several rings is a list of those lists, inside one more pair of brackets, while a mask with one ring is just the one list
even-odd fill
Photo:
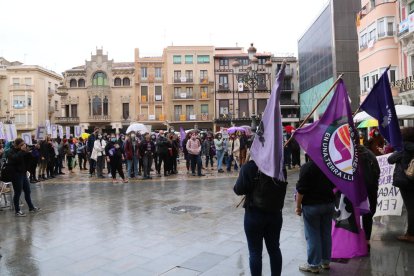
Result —
[[360, 180], [355, 137], [356, 128], [343, 80], [339, 80], [321, 119], [295, 132], [296, 141], [309, 157], [353, 206], [359, 208], [366, 202], [367, 191]]

